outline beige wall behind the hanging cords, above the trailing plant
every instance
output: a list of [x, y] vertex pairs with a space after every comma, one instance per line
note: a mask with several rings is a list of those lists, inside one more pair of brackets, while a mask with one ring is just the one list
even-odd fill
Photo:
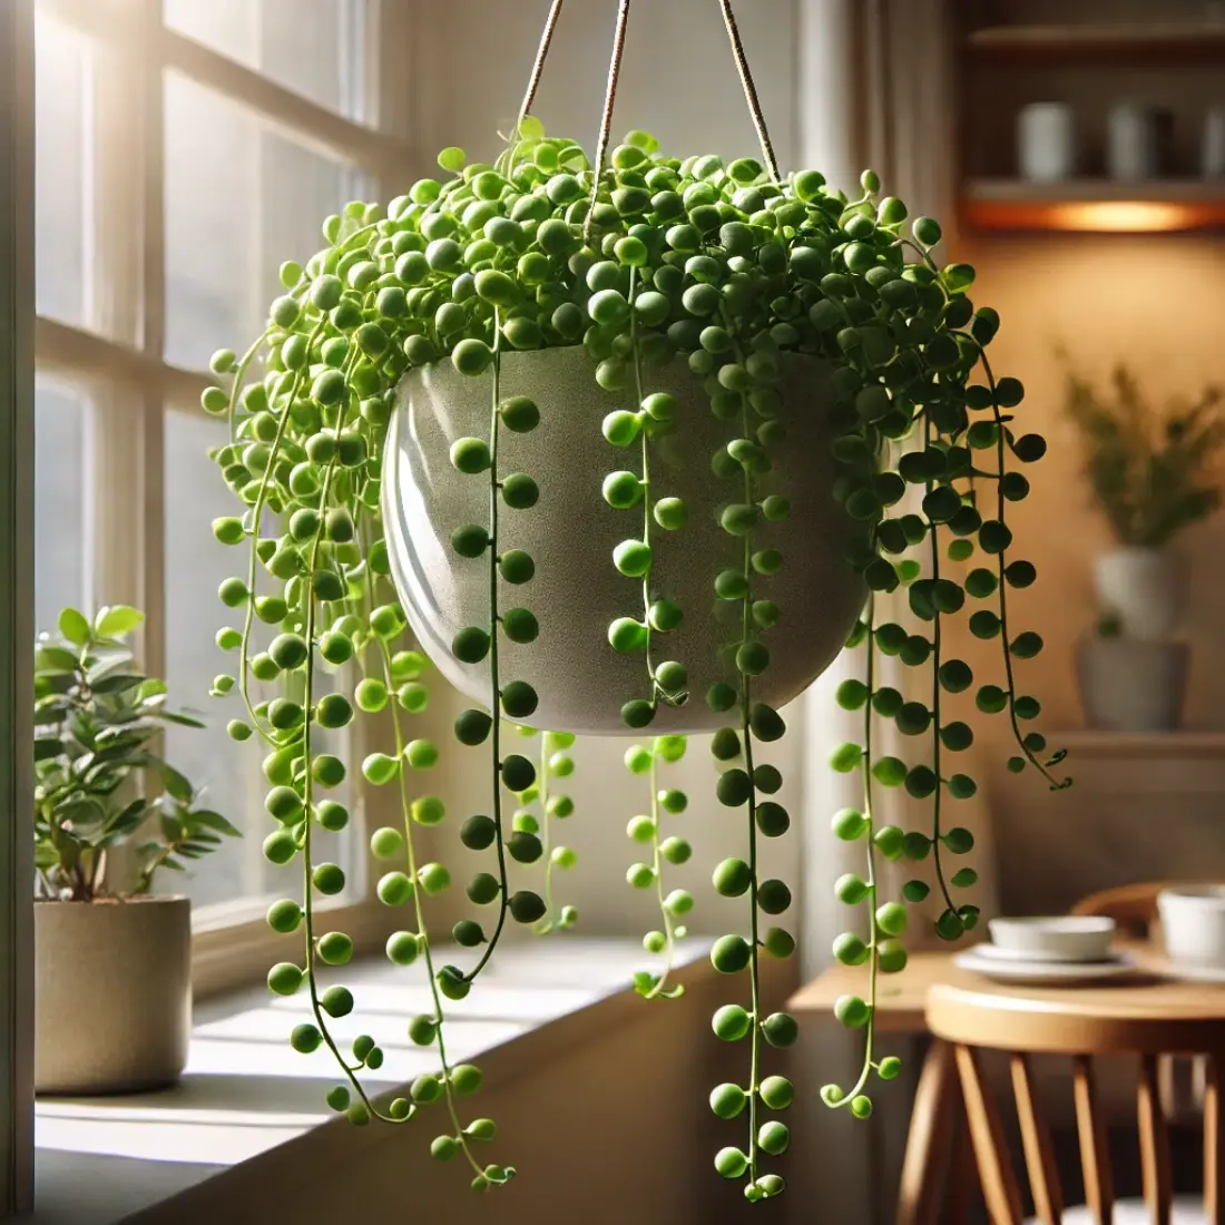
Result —
[[[737, 17], [779, 159], [795, 145], [800, 0], [741, 4]], [[514, 123], [548, 0], [431, 0], [421, 5], [424, 88], [417, 138], [430, 151], [459, 145], [472, 156], [497, 152], [497, 132]], [[616, 5], [567, 0], [549, 51], [535, 114], [556, 135], [595, 145], [612, 47]], [[446, 33], [443, 33], [446, 31]], [[709, 0], [650, 0], [630, 11], [614, 140], [635, 127], [653, 132], [677, 157], [744, 156], [756, 148], [719, 6]]]

